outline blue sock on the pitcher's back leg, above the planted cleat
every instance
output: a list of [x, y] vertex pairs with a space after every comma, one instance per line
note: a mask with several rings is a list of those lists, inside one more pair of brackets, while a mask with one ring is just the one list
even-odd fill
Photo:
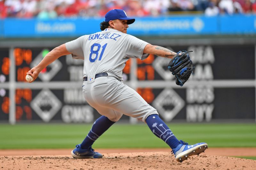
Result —
[[95, 140], [100, 137], [110, 126], [115, 122], [110, 121], [106, 116], [100, 116], [92, 125], [92, 129], [89, 131], [88, 135], [85, 137], [81, 144], [82, 149], [88, 149]]

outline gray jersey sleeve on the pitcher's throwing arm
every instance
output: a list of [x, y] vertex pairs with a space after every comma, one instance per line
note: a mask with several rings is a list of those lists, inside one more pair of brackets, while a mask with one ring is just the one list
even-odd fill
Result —
[[72, 53], [72, 58], [74, 59], [84, 59], [84, 51], [83, 51], [84, 36], [81, 36], [76, 40], [66, 42], [65, 44], [68, 52]]

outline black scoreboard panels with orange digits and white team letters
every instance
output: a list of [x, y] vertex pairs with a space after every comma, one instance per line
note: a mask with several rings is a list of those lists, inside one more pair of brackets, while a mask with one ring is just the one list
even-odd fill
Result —
[[[137, 60], [137, 78], [131, 78], [131, 60], [123, 70], [125, 82], [136, 81], [137, 92], [166, 121], [189, 122], [216, 119], [255, 119], [255, 86], [243, 86], [255, 80], [254, 45], [212, 45], [167, 47], [173, 51], [192, 50], [191, 60], [195, 75], [187, 85], [175, 85], [174, 76], [166, 65], [170, 59], [150, 55]], [[25, 82], [26, 72], [39, 63], [52, 49], [14, 48], [16, 82]], [[9, 82], [9, 49], [2, 48], [0, 82]], [[246, 60], [243, 56], [246, 51]], [[237, 67], [239, 63], [239, 67]], [[133, 71], [133, 70], [132, 70]], [[42, 120], [44, 122], [93, 122], [100, 115], [84, 100], [82, 89], [83, 60], [62, 56], [45, 68], [35, 82], [59, 84], [59, 89], [16, 89], [16, 120]], [[159, 82], [152, 87], [152, 82]], [[77, 82], [74, 88], [65, 88], [63, 82]], [[143, 83], [144, 84], [143, 84]], [[167, 84], [168, 82], [168, 84]], [[191, 83], [190, 85], [188, 85]], [[0, 84], [0, 120], [8, 120], [9, 91]], [[122, 119], [128, 119], [124, 116]]]

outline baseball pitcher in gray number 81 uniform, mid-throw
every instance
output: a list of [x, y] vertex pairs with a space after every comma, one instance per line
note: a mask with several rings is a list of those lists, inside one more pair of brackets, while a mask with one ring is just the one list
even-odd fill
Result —
[[187, 51], [175, 53], [127, 34], [129, 25], [134, 21], [123, 10], [110, 10], [105, 15], [105, 21], [100, 23], [100, 32], [81, 36], [54, 48], [27, 73], [35, 80], [40, 71], [63, 55], [72, 54], [73, 58], [84, 60], [84, 98], [102, 116], [93, 123], [82, 143], [71, 151], [74, 158], [102, 158], [102, 154], [92, 149], [92, 144], [123, 114], [147, 123], [151, 131], [170, 146], [179, 162], [208, 148], [206, 143], [189, 145], [178, 140], [159, 118], [156, 109], [124, 85], [122, 70], [129, 58], [144, 60], [153, 54], [172, 59], [167, 66], [180, 86], [184, 85], [193, 70]]

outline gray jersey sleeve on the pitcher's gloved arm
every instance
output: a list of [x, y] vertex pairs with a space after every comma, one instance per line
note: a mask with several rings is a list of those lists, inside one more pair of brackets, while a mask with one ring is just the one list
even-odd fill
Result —
[[139, 58], [144, 60], [148, 57], [149, 54], [143, 53], [144, 48], [147, 44], [146, 41], [140, 40], [132, 35], [126, 36], [126, 56], [128, 58]]

